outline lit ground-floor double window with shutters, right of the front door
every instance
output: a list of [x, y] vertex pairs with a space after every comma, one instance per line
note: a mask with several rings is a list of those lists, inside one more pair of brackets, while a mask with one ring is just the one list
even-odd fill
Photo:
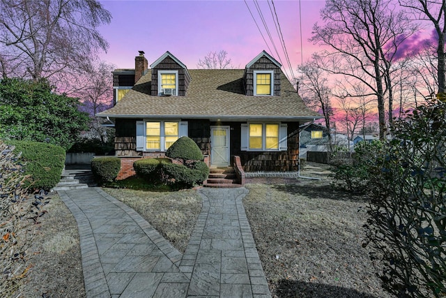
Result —
[[287, 149], [287, 125], [249, 123], [241, 126], [241, 149], [245, 151], [283, 151]]

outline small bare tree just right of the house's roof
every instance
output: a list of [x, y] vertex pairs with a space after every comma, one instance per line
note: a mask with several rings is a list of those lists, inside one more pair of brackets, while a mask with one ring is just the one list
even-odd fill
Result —
[[332, 136], [330, 127], [330, 117], [333, 115], [332, 103], [330, 100], [331, 90], [328, 87], [328, 80], [323, 76], [323, 70], [317, 67], [314, 61], [307, 61], [298, 67], [302, 76], [299, 81], [299, 94], [307, 106], [318, 112], [322, 111], [325, 127], [327, 128], [328, 143], [332, 146]]

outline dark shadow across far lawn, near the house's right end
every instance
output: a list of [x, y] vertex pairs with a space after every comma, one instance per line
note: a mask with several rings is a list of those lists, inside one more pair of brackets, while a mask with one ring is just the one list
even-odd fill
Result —
[[364, 195], [354, 195], [346, 191], [333, 188], [330, 184], [278, 184], [272, 186], [277, 191], [284, 191], [292, 195], [306, 195], [309, 198], [365, 202]]

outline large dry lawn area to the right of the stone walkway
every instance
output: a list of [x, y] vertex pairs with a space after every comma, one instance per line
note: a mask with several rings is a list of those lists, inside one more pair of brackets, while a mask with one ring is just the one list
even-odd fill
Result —
[[273, 297], [390, 297], [361, 246], [362, 198], [333, 191], [327, 180], [246, 187], [243, 203]]

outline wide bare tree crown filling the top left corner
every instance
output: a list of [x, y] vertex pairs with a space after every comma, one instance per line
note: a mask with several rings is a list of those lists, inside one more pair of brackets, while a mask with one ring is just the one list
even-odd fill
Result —
[[2, 76], [51, 78], [107, 50], [98, 31], [112, 16], [95, 0], [0, 0]]

